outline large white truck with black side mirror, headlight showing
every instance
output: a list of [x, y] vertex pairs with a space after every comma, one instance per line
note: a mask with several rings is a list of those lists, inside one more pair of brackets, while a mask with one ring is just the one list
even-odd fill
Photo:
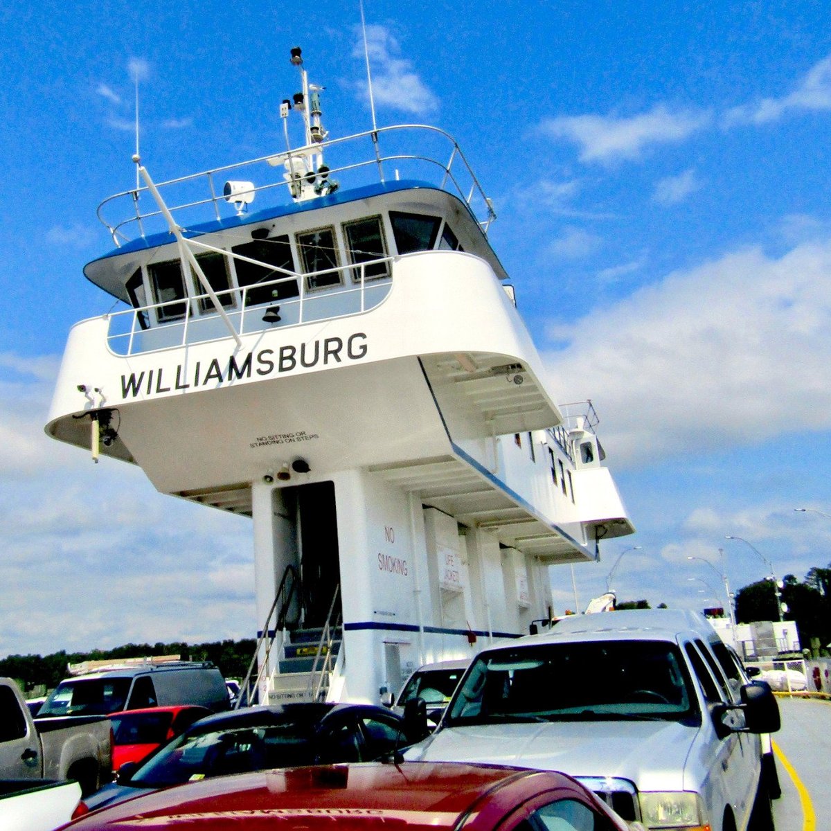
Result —
[[773, 831], [759, 734], [779, 707], [723, 646], [692, 612], [564, 618], [480, 652], [405, 758], [560, 770], [645, 829]]

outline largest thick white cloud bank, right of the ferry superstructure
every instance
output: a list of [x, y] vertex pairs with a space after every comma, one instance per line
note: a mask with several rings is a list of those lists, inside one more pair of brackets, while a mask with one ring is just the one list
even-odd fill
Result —
[[563, 401], [592, 398], [617, 460], [647, 462], [831, 429], [831, 241], [725, 254], [570, 327], [546, 356]]

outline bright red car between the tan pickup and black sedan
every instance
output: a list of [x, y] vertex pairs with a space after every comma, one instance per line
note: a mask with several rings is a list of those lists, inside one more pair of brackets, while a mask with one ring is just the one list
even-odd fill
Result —
[[122, 710], [110, 716], [112, 722], [112, 772], [116, 774], [126, 762], [138, 762], [151, 750], [206, 715], [207, 707], [195, 705], [147, 707], [145, 710]]

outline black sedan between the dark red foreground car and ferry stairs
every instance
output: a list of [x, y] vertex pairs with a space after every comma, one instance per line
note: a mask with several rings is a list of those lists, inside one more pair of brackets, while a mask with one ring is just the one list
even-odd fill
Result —
[[421, 735], [404, 719], [370, 704], [252, 706], [210, 715], [84, 800], [87, 809], [150, 790], [249, 770], [358, 762], [395, 752]]

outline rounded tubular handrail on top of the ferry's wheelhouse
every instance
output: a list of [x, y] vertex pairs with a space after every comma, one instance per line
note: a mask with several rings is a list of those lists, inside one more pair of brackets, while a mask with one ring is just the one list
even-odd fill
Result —
[[[378, 137], [380, 135], [384, 135], [386, 137], [388, 135], [391, 136], [394, 134], [400, 134], [402, 131], [406, 130], [418, 130], [421, 132], [433, 133], [435, 135], [438, 135], [440, 139], [448, 141], [452, 148], [450, 152], [450, 158], [446, 161], [440, 161], [438, 159], [434, 159], [430, 155], [420, 155], [418, 153], [381, 153], [380, 144], [378, 142]], [[475, 215], [476, 221], [479, 223], [480, 227], [484, 230], [485, 233], [487, 233], [489, 224], [494, 219], [496, 219], [496, 214], [494, 212], [493, 205], [491, 204], [488, 197], [484, 194], [484, 190], [482, 189], [481, 184], [479, 184], [479, 179], [476, 178], [473, 169], [470, 167], [469, 161], [465, 157], [465, 154], [462, 152], [460, 146], [453, 138], [453, 136], [445, 130], [441, 130], [439, 127], [434, 127], [430, 125], [401, 124], [381, 127], [377, 130], [365, 130], [360, 133], [342, 136], [341, 138], [330, 139], [327, 141], [320, 142], [318, 144], [298, 147], [291, 151], [283, 151], [276, 154], [259, 156], [257, 159], [237, 162], [233, 165], [224, 165], [221, 167], [211, 168], [210, 170], [204, 170], [195, 174], [179, 176], [176, 179], [168, 179], [165, 182], [160, 182], [156, 186], [159, 189], [169, 190], [174, 188], [176, 185], [194, 184], [194, 182], [199, 183], [200, 179], [205, 179], [206, 183], [204, 189], [204, 197], [199, 198], [199, 195], [197, 194], [197, 198], [194, 199], [191, 195], [189, 199], [185, 199], [184, 202], [181, 202], [180, 204], [176, 204], [175, 200], [170, 201], [166, 199], [165, 201], [170, 201], [170, 212], [173, 214], [181, 213], [186, 209], [194, 209], [204, 205], [211, 205], [213, 207], [213, 210], [210, 212], [210, 217], [212, 217], [213, 219], [220, 219], [221, 214], [219, 212], [219, 208], [220, 205], [224, 204], [226, 200], [224, 199], [224, 196], [217, 195], [216, 189], [214, 188], [215, 175], [229, 174], [233, 171], [241, 170], [242, 168], [248, 167], [250, 165], [268, 164], [270, 167], [275, 167], [276, 165], [281, 164], [281, 162], [288, 157], [289, 152], [295, 155], [302, 154], [304, 152], [314, 152], [318, 154], [321, 153], [323, 150], [335, 148], [338, 145], [344, 145], [347, 143], [357, 143], [367, 138], [371, 139], [372, 145], [371, 150], [369, 150], [366, 153], [366, 159], [352, 161], [349, 164], [344, 164], [340, 166], [332, 166], [331, 170], [329, 171], [330, 179], [332, 175], [343, 174], [351, 170], [358, 170], [364, 168], [366, 166], [377, 166], [380, 165], [382, 162], [424, 162], [429, 166], [438, 168], [439, 170], [443, 171], [443, 175], [440, 177], [438, 186], [441, 189], [455, 190], [455, 193], [460, 197], [460, 199], [462, 199], [465, 202], [465, 204], [467, 204], [468, 207], [471, 209], [471, 212]], [[454, 167], [456, 160], [458, 160], [458, 165]], [[467, 180], [470, 186], [470, 189], [467, 191], [467, 193], [465, 193], [465, 188], [463, 188], [463, 184], [460, 178], [457, 175], [455, 175], [454, 171], [459, 169], [463, 172], [464, 178]], [[378, 173], [378, 176], [380, 181], [384, 180], [381, 173]], [[453, 188], [449, 188], [449, 182], [452, 183]], [[252, 189], [252, 192], [256, 194], [259, 191], [268, 190], [272, 188], [288, 188], [290, 184], [291, 183], [286, 180], [271, 181], [267, 184], [255, 186]], [[116, 247], [120, 247], [122, 240], [130, 239], [130, 236], [128, 234], [125, 234], [122, 230], [125, 226], [129, 226], [135, 223], [139, 231], [138, 236], [143, 237], [145, 236], [145, 221], [147, 219], [158, 218], [161, 216], [161, 212], [158, 209], [152, 209], [148, 211], [142, 211], [140, 209], [140, 196], [142, 194], [147, 193], [148, 189], [146, 187], [124, 190], [118, 194], [113, 194], [112, 196], [107, 197], [101, 202], [101, 204], [99, 204], [98, 209], [96, 211], [96, 215], [98, 219], [101, 221], [101, 224], [103, 224], [106, 227], [106, 229], [110, 232], [113, 242], [116, 244]], [[189, 189], [189, 194], [193, 194], [193, 189]], [[475, 197], [477, 198], [477, 201], [481, 201], [481, 205], [479, 205], [478, 209], [476, 210], [473, 207], [473, 201]], [[127, 214], [123, 219], [115, 219], [112, 221], [106, 219], [104, 213], [107, 206], [111, 206], [111, 204], [116, 202], [119, 202], [120, 204], [120, 200], [123, 199], [129, 200], [131, 209], [130, 213]]]

